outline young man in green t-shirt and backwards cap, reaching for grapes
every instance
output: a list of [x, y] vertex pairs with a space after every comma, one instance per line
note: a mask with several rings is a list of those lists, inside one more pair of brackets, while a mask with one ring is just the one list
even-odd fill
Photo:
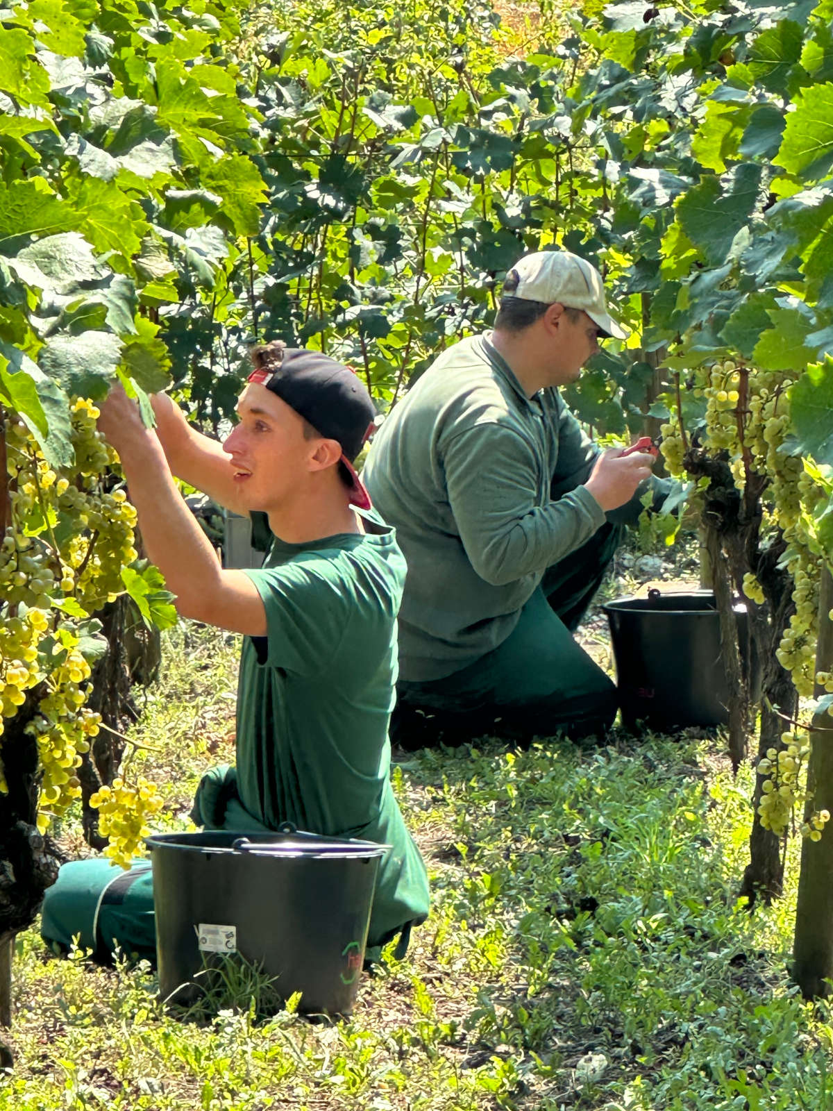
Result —
[[[392, 845], [368, 949], [400, 935], [403, 952], [429, 893], [390, 781], [404, 560], [352, 467], [375, 410], [355, 374], [318, 351], [271, 343], [254, 359], [222, 447], [164, 394], [153, 398], [155, 429], [120, 387], [99, 419], [179, 612], [244, 635], [237, 763], [203, 779], [194, 818], [241, 832], [290, 821]], [[173, 474], [268, 521], [262, 568], [220, 567]]]

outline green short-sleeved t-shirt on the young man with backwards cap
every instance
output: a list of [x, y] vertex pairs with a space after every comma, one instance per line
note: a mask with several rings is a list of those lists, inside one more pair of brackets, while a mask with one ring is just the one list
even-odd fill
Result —
[[424, 864], [390, 781], [388, 723], [397, 680], [397, 612], [405, 564], [375, 514], [365, 533], [303, 544], [272, 539], [247, 571], [263, 599], [265, 637], [240, 661], [237, 791], [275, 829], [387, 842], [369, 945], [428, 914]]

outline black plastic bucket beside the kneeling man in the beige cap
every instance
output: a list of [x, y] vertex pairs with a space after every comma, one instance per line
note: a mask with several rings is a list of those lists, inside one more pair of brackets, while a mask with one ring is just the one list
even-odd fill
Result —
[[[622, 723], [652, 729], [723, 725], [729, 720], [720, 617], [709, 590], [619, 598], [608, 614]], [[744, 631], [746, 609], [734, 605]], [[741, 637], [744, 643], [744, 637]]]

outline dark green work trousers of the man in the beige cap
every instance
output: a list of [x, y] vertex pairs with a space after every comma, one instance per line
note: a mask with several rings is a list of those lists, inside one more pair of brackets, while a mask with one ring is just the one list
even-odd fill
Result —
[[601, 737], [619, 708], [611, 679], [573, 639], [624, 531], [603, 524], [549, 568], [510, 635], [443, 679], [400, 681], [391, 740], [405, 749], [492, 735]]

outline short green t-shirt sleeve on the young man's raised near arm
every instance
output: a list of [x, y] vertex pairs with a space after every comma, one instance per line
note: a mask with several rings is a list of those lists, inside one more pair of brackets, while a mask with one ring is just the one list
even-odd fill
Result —
[[345, 597], [338, 579], [321, 571], [320, 560], [295, 559], [280, 567], [249, 570], [267, 612], [265, 658], [271, 668], [317, 675], [341, 643]]

